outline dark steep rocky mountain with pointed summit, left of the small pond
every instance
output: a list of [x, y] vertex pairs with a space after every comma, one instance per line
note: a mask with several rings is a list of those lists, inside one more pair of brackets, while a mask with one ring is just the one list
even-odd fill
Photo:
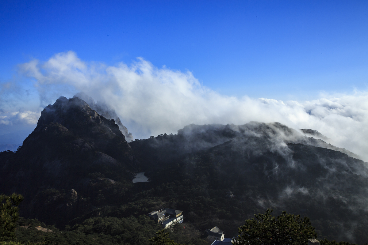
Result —
[[65, 97], [43, 109], [22, 147], [0, 162], [1, 190], [25, 196], [22, 215], [60, 224], [117, 203], [139, 167], [113, 119]]

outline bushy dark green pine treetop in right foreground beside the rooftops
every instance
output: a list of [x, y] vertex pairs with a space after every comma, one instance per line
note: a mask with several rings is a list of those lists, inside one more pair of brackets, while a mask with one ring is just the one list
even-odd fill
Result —
[[256, 219], [245, 220], [234, 242], [241, 245], [305, 245], [308, 239], [317, 237], [308, 217], [300, 219], [300, 215], [283, 211], [275, 218], [271, 213], [272, 209], [267, 209], [265, 214], [254, 215]]

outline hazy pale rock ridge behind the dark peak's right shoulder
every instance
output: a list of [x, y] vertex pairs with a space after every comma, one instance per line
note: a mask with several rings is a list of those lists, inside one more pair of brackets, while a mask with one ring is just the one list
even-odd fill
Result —
[[127, 140], [128, 143], [134, 140], [132, 133], [128, 132], [127, 127], [123, 125], [114, 109], [110, 108], [108, 105], [100, 101], [98, 103], [95, 103], [95, 100], [93, 100], [92, 97], [88, 96], [83, 92], [75, 94], [73, 98], [75, 97], [81, 98], [82, 100], [86, 101], [89, 107], [91, 107], [93, 110], [98, 112], [98, 114], [104, 116], [105, 118], [114, 119], [116, 124], [119, 126], [119, 129], [124, 134], [125, 139]]

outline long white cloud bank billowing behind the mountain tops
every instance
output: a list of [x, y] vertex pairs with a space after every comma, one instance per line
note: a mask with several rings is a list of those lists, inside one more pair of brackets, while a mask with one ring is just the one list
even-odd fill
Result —
[[[19, 66], [33, 83], [38, 109], [0, 111], [0, 126], [22, 120], [32, 124], [47, 104], [60, 96], [82, 91], [116, 110], [135, 138], [176, 133], [185, 125], [250, 121], [280, 122], [294, 129], [315, 129], [368, 160], [368, 93], [322, 95], [312, 101], [280, 101], [221, 95], [198, 82], [191, 72], [157, 68], [143, 58], [132, 65], [106, 66], [84, 62], [69, 51], [46, 62], [32, 60]], [[234, 88], [236, 89], [236, 88]], [[1, 93], [7, 88], [3, 86]], [[1, 106], [6, 102], [1, 99]], [[14, 114], [14, 115], [13, 115]]]

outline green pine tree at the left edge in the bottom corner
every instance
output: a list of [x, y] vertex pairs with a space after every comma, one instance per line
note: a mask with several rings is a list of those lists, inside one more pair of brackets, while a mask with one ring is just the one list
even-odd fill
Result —
[[20, 194], [0, 195], [0, 241], [15, 239], [15, 226], [19, 218], [18, 205], [23, 201]]

